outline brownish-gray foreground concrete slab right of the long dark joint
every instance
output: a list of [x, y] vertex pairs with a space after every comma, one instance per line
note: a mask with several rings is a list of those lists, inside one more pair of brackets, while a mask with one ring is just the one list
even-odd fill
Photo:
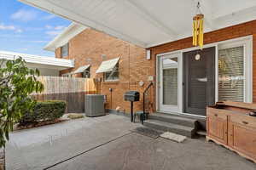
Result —
[[202, 139], [188, 139], [178, 144], [131, 133], [50, 169], [255, 170], [256, 165]]

